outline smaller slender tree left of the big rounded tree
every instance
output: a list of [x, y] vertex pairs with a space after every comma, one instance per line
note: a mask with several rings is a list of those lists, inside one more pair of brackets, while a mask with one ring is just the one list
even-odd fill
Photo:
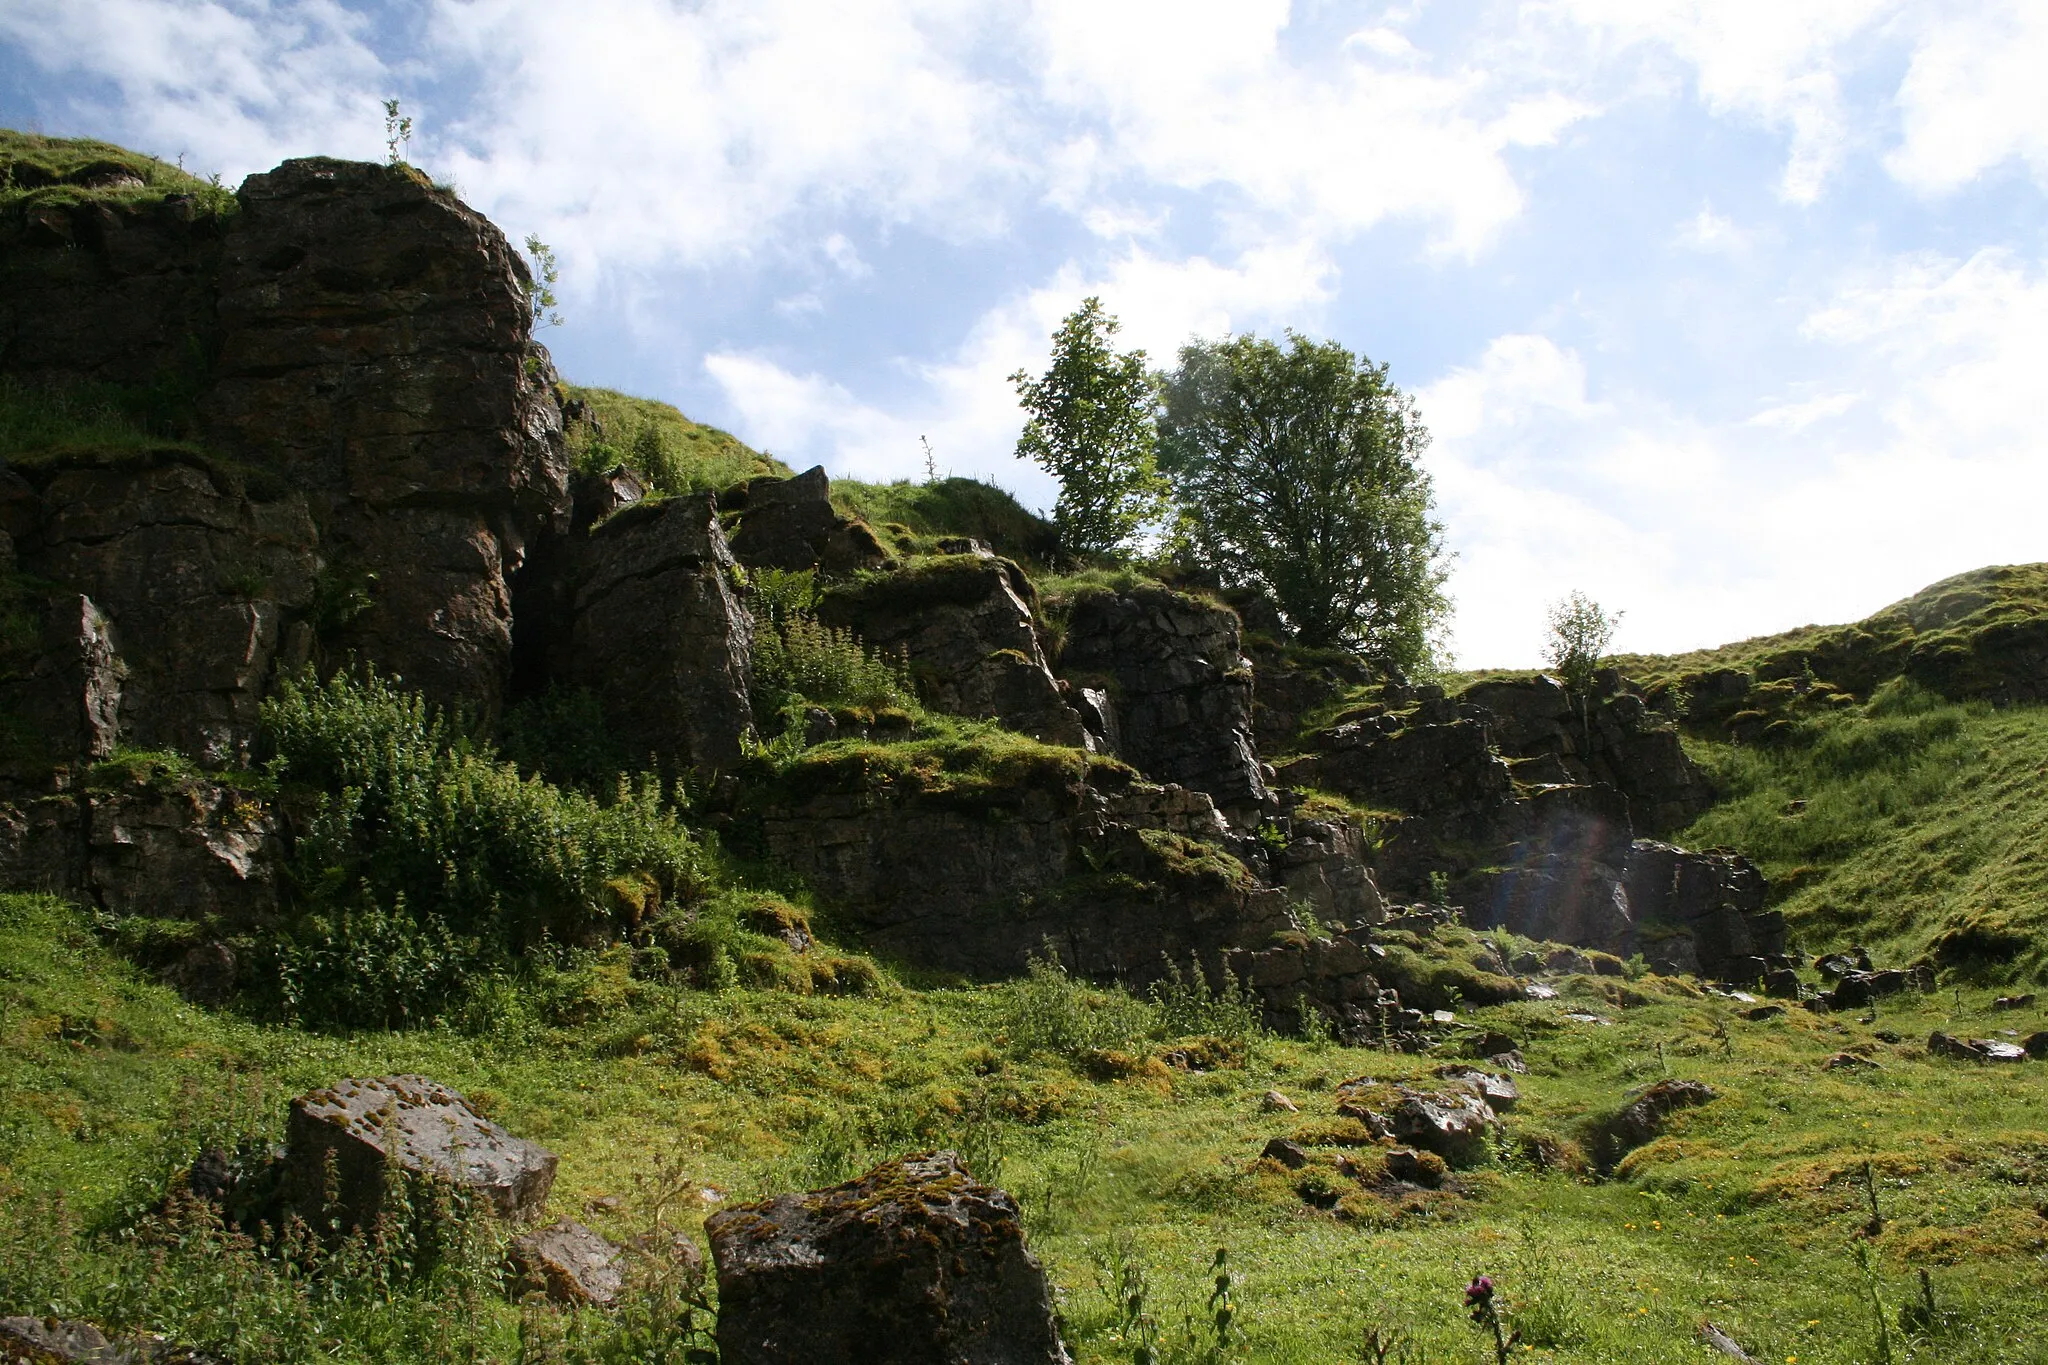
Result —
[[1112, 346], [1118, 321], [1102, 299], [1083, 299], [1053, 334], [1042, 379], [1010, 377], [1030, 413], [1018, 458], [1059, 479], [1053, 526], [1067, 555], [1124, 548], [1161, 510], [1165, 483], [1155, 463], [1157, 397], [1145, 352]]

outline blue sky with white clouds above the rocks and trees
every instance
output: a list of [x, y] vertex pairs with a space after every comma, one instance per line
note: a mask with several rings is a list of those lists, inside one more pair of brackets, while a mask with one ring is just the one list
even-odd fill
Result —
[[563, 375], [991, 479], [1085, 295], [1296, 329], [1434, 442], [1464, 667], [2048, 559], [2040, 0], [0, 0], [0, 125], [408, 160], [561, 262]]

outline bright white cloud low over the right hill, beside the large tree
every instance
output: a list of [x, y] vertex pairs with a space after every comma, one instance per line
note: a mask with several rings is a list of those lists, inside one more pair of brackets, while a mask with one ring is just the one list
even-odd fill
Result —
[[1837, 383], [1724, 424], [1587, 401], [1581, 358], [1542, 336], [1421, 389], [1460, 657], [1534, 663], [1542, 604], [1573, 587], [1628, 610], [1624, 649], [1692, 649], [2042, 557], [2048, 262], [1896, 258], [1804, 332]]

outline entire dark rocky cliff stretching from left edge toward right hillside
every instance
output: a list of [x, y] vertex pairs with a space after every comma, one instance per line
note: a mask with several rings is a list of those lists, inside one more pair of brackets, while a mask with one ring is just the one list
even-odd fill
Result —
[[[100, 395], [129, 426], [0, 467], [10, 884], [274, 915], [297, 831], [238, 776], [262, 700], [287, 671], [371, 667], [481, 735], [512, 702], [582, 698], [614, 772], [690, 776], [735, 847], [952, 972], [1053, 943], [1092, 976], [1239, 962], [1350, 1007], [1378, 1001], [1380, 888], [1671, 970], [1784, 966], [1755, 868], [1655, 841], [1710, 800], [1673, 698], [1761, 733], [1778, 655], [1450, 696], [1298, 649], [1255, 596], [1133, 577], [1055, 612], [977, 540], [885, 544], [821, 469], [694, 493], [610, 456], [571, 477], [565, 407], [594, 417], [532, 342], [524, 264], [412, 168], [295, 160], [231, 199], [74, 188], [0, 215], [0, 381], [63, 411]], [[770, 587], [842, 651], [819, 667], [895, 671], [918, 714], [756, 714]], [[1948, 587], [1894, 608], [1890, 645], [1815, 657], [1931, 669], [1958, 622], [1997, 616], [1997, 585]], [[2028, 628], [1997, 630], [2032, 657]], [[2001, 696], [2025, 673], [1944, 667]], [[1835, 690], [1810, 671], [1786, 696]], [[188, 769], [109, 769], [137, 749]]]

